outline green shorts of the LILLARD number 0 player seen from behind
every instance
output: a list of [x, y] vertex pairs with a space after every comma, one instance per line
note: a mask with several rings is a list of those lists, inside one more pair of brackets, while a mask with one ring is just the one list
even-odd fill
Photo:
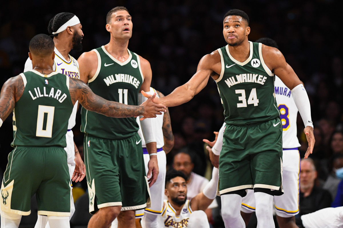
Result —
[[8, 156], [1, 184], [1, 210], [31, 213], [36, 193], [38, 214], [70, 216], [71, 187], [67, 153], [62, 147], [17, 146]]

